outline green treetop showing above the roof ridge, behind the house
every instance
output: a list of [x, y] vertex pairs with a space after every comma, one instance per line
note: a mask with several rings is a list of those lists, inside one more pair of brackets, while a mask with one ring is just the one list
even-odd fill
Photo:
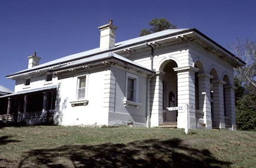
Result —
[[160, 19], [152, 19], [151, 22], [149, 22], [149, 25], [151, 25], [152, 28], [149, 29], [141, 29], [140, 30], [140, 36], [152, 34], [154, 32], [163, 31], [165, 29], [169, 28], [177, 28], [175, 25], [172, 25], [167, 19], [160, 18]]

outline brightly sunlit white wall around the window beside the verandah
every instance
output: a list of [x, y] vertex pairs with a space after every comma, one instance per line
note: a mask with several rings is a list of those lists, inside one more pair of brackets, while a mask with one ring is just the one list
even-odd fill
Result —
[[107, 71], [94, 71], [87, 75], [87, 106], [71, 106], [76, 100], [78, 77], [87, 72], [63, 75], [59, 80], [59, 112], [57, 123], [71, 125], [104, 125], [107, 124], [108, 113], [104, 111], [104, 75]]

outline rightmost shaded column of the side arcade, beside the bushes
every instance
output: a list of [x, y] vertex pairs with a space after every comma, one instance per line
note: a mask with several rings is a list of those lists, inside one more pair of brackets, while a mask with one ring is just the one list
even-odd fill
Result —
[[225, 85], [226, 116], [230, 118], [231, 129], [236, 130], [235, 89], [234, 85]]

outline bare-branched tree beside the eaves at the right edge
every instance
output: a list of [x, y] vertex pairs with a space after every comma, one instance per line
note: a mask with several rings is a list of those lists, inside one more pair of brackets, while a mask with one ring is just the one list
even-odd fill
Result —
[[238, 38], [229, 48], [246, 63], [244, 67], [236, 68], [236, 75], [244, 84], [251, 84], [256, 89], [256, 42]]

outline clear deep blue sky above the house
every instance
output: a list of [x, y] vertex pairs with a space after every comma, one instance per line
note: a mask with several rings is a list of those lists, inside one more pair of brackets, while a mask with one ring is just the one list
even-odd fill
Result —
[[34, 51], [40, 63], [99, 46], [98, 27], [113, 19], [116, 42], [139, 36], [152, 18], [196, 28], [225, 48], [256, 35], [256, 1], [0, 0], [0, 85], [5, 75], [27, 68]]

